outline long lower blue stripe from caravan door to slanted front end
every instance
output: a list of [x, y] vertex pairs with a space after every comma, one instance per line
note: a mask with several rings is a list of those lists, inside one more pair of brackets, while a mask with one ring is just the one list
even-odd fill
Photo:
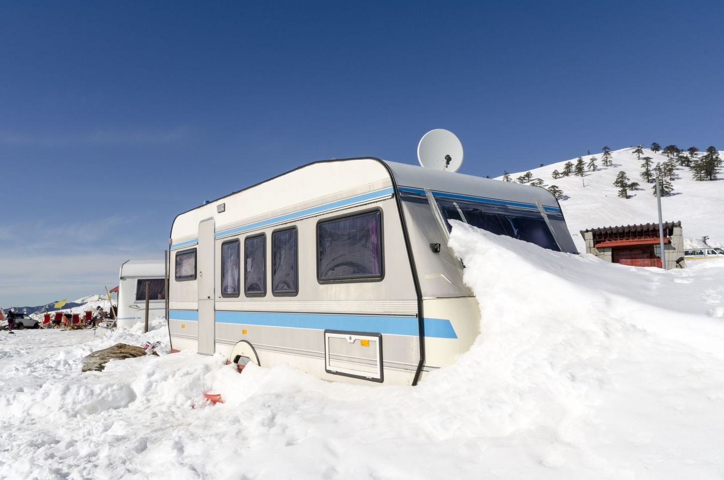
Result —
[[[369, 331], [392, 335], [418, 335], [416, 317], [390, 315], [330, 315], [326, 313], [216, 312], [219, 323], [312, 328], [316, 330]], [[450, 320], [425, 318], [425, 336], [457, 339]]]

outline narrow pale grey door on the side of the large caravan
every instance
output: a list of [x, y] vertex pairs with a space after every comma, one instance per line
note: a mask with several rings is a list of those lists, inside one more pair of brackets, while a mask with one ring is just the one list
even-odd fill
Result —
[[214, 219], [198, 224], [198, 352], [214, 355]]

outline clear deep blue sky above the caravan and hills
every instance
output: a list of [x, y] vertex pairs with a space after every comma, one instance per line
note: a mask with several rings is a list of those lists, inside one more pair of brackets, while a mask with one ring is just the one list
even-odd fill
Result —
[[177, 213], [314, 160], [520, 172], [724, 147], [720, 1], [0, 0], [0, 306], [117, 284]]

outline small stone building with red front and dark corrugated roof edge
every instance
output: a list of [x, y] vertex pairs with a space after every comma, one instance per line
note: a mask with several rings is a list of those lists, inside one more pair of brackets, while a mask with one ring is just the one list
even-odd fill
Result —
[[[606, 262], [661, 268], [659, 224], [626, 225], [581, 230], [586, 252]], [[685, 268], [681, 222], [664, 223], [666, 268]]]

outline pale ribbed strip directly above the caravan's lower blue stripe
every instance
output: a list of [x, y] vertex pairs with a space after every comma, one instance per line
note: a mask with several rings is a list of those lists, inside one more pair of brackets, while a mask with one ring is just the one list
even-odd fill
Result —
[[344, 302], [304, 302], [299, 300], [291, 302], [216, 302], [216, 310], [224, 310], [227, 312], [417, 315], [417, 300], [350, 300]]

